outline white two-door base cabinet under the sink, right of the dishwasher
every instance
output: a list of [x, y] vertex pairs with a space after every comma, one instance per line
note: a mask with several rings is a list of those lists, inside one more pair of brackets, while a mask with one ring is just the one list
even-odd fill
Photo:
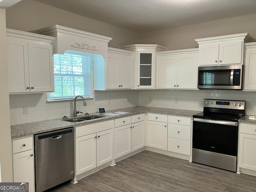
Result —
[[114, 159], [113, 120], [76, 127], [76, 175]]

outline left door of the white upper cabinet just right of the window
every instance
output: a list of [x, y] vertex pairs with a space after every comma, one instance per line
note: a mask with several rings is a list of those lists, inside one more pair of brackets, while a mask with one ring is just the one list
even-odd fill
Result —
[[106, 89], [118, 89], [120, 85], [118, 77], [118, 54], [108, 53], [106, 61]]

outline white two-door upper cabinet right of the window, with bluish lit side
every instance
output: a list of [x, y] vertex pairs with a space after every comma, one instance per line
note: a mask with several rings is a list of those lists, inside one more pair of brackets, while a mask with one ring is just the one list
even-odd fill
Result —
[[133, 52], [108, 48], [106, 63], [94, 62], [94, 90], [131, 89], [132, 56]]

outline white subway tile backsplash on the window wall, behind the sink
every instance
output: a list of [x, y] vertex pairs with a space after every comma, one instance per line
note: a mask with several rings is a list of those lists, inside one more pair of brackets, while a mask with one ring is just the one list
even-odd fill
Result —
[[[83, 113], [99, 112], [99, 108], [114, 110], [138, 106], [138, 90], [95, 91], [94, 99], [76, 100], [76, 110]], [[110, 102], [110, 104], [109, 104]], [[23, 114], [23, 107], [28, 106], [28, 114]], [[10, 95], [11, 125], [73, 116], [74, 100], [46, 102], [46, 94]]]

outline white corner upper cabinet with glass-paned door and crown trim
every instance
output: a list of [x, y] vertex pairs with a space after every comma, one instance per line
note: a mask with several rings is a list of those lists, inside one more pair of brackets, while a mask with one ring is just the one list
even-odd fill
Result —
[[121, 46], [124, 50], [135, 52], [132, 68], [133, 89], [154, 89], [156, 52], [166, 47], [152, 44], [132, 44]]

